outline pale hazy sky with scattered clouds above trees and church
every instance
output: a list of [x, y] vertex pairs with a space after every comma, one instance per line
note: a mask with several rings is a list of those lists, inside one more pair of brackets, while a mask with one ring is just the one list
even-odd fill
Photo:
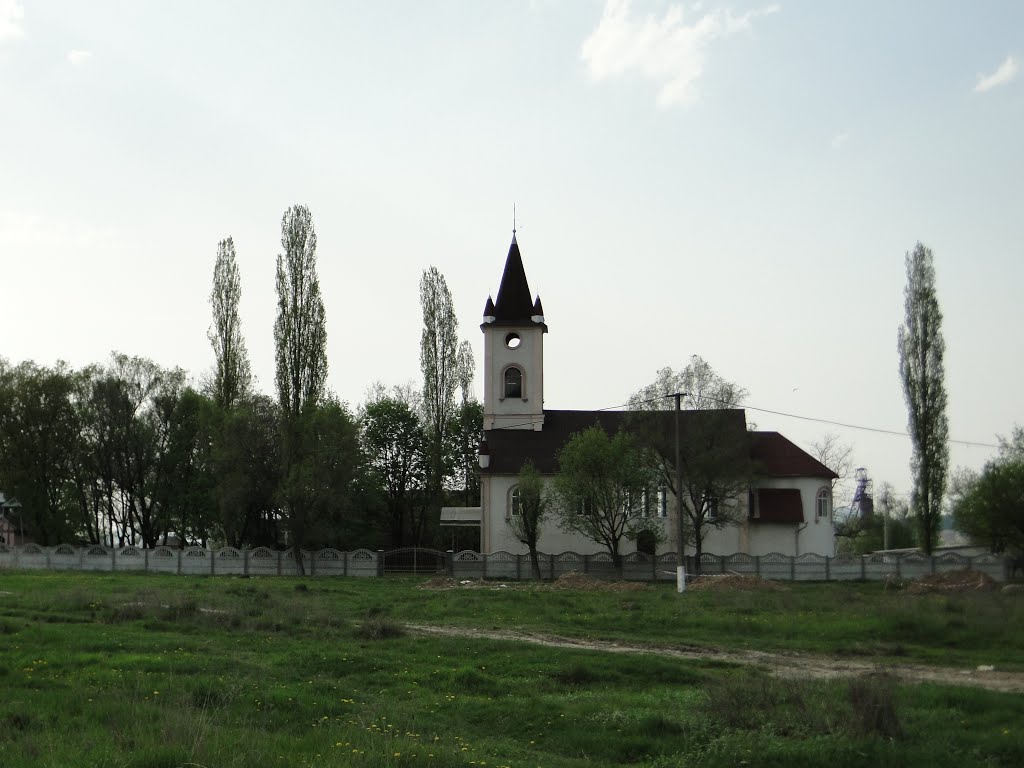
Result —
[[479, 368], [514, 206], [546, 407], [621, 406], [699, 354], [759, 429], [833, 432], [906, 493], [905, 434], [810, 419], [905, 429], [920, 241], [950, 464], [1024, 425], [1022, 63], [1013, 0], [0, 0], [0, 355], [202, 380], [231, 237], [270, 394], [281, 218], [303, 204], [329, 386], [356, 408], [419, 385], [431, 265]]

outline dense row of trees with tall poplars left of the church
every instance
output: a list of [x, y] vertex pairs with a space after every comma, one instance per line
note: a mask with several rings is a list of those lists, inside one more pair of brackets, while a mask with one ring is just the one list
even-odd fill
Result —
[[[482, 406], [444, 276], [420, 281], [424, 386], [375, 384], [354, 411], [327, 389], [316, 233], [282, 217], [275, 397], [253, 389], [234, 244], [217, 246], [214, 365], [115, 352], [73, 369], [0, 359], [0, 489], [36, 542], [315, 548], [438, 546], [439, 508], [479, 497]], [[461, 396], [459, 396], [461, 394]]]

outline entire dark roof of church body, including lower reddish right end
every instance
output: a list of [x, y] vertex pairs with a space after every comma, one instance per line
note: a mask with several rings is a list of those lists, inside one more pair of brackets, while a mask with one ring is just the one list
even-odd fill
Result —
[[[528, 421], [528, 417], [524, 417]], [[490, 455], [490, 465], [483, 470], [492, 474], [518, 474], [527, 459], [542, 474], [558, 471], [558, 452], [577, 432], [599, 424], [608, 434], [620, 429], [640, 431], [651, 426], [663, 441], [675, 439], [675, 412], [654, 411], [545, 411], [544, 429], [490, 429], [483, 433]], [[750, 457], [754, 473], [770, 477], [822, 477], [831, 479], [836, 473], [795, 445], [778, 432], [748, 432], [742, 409], [719, 411], [683, 411], [680, 431], [685, 441], [711, 429], [722, 430], [736, 437], [741, 444], [750, 439]]]

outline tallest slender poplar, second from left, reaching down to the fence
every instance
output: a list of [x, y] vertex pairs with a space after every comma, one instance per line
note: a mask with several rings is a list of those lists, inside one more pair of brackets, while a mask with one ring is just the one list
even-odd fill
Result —
[[303, 572], [301, 548], [306, 532], [316, 529], [312, 516], [322, 505], [317, 488], [299, 481], [308, 476], [304, 451], [316, 443], [302, 428], [324, 397], [327, 382], [327, 322], [316, 276], [316, 232], [305, 206], [292, 206], [281, 219], [278, 254], [278, 317], [273, 324], [278, 399], [282, 417], [281, 497], [292, 531], [296, 565]]

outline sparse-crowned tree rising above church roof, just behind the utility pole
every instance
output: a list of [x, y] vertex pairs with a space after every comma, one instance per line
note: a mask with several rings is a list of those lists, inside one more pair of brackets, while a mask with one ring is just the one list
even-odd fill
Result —
[[[667, 414], [650, 413], [674, 409], [675, 399], [668, 395], [676, 392], [682, 394], [682, 410], [699, 412], [688, 415], [680, 430], [680, 471], [674, 424]], [[630, 397], [636, 412], [630, 426], [657, 457], [660, 482], [676, 497], [676, 524], [683, 540], [693, 545], [697, 572], [708, 532], [735, 525], [745, 516], [754, 468], [745, 428], [732, 409], [746, 394], [695, 354], [681, 371], [662, 369], [652, 383]], [[677, 478], [682, 487], [677, 487]]]

